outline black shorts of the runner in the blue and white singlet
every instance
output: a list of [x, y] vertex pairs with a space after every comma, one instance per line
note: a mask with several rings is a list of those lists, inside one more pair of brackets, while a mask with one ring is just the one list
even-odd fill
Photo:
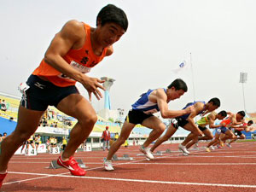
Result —
[[148, 119], [149, 117], [154, 116], [153, 114], [146, 114], [143, 113], [141, 110], [134, 110], [131, 109], [129, 113], [127, 114], [125, 121], [131, 124], [142, 124], [143, 120]]

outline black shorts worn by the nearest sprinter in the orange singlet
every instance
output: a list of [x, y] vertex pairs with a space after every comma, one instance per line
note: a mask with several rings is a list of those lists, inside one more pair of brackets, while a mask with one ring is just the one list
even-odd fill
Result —
[[23, 94], [20, 105], [37, 111], [45, 111], [49, 105], [57, 107], [58, 103], [65, 97], [79, 93], [74, 85], [59, 87], [38, 78], [36, 75], [31, 75], [26, 84], [30, 87]]

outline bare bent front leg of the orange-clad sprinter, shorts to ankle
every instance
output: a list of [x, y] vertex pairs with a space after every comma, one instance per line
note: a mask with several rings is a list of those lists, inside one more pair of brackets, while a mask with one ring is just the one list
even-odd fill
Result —
[[59, 102], [57, 108], [61, 112], [78, 119], [78, 123], [74, 125], [70, 132], [67, 147], [61, 155], [61, 159], [65, 161], [73, 156], [79, 145], [90, 135], [96, 123], [97, 116], [90, 102], [79, 94], [71, 94], [65, 97]]

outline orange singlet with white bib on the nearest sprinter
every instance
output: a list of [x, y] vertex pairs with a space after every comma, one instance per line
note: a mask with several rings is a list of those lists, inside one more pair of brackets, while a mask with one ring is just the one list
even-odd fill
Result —
[[[78, 70], [81, 73], [89, 73], [92, 67], [95, 67], [97, 63], [102, 61], [105, 57], [107, 48], [103, 49], [102, 55], [97, 56], [93, 52], [90, 42], [90, 26], [84, 23], [84, 29], [86, 32], [85, 42], [80, 49], [70, 49], [63, 58], [71, 67]], [[60, 73], [54, 67], [51, 67], [43, 59], [38, 68], [32, 73], [33, 75], [44, 76], [52, 84], [60, 87], [67, 87], [74, 85], [76, 81], [67, 77], [65, 74]]]

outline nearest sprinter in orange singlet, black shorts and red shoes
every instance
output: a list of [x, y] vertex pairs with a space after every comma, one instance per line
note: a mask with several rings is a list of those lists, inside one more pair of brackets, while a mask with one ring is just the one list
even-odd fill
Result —
[[73, 154], [90, 135], [97, 116], [90, 102], [75, 87], [79, 81], [97, 99], [102, 98], [103, 81], [90, 78], [85, 73], [105, 56], [112, 55], [113, 44], [122, 37], [128, 27], [125, 12], [108, 4], [96, 18], [96, 28], [79, 22], [68, 21], [58, 32], [47, 49], [43, 61], [32, 73], [26, 84], [21, 84], [18, 124], [15, 131], [4, 139], [0, 155], [0, 187], [7, 174], [7, 166], [15, 151], [37, 130], [39, 121], [49, 105], [76, 119], [78, 123], [70, 132], [69, 143], [58, 159], [76, 176], [85, 171], [78, 166]]

